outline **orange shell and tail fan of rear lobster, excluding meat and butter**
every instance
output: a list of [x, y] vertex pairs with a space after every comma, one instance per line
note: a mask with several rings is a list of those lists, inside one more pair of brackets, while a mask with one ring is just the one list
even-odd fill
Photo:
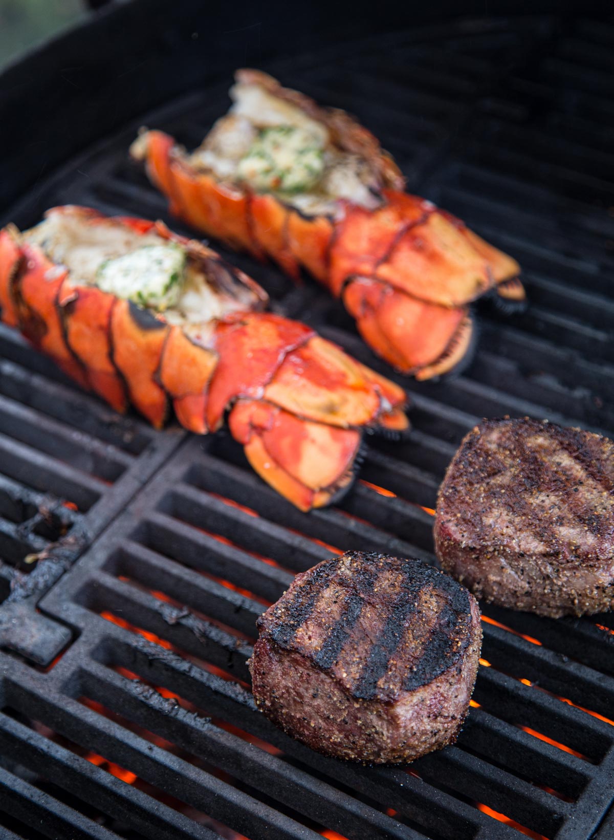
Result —
[[471, 344], [468, 304], [496, 287], [522, 302], [516, 260], [486, 243], [431, 202], [402, 192], [405, 181], [375, 137], [348, 114], [320, 108], [254, 70], [237, 81], [256, 85], [323, 123], [338, 148], [362, 156], [380, 185], [380, 207], [338, 200], [334, 218], [305, 216], [272, 194], [220, 181], [190, 162], [160, 131], [133, 144], [171, 213], [202, 233], [297, 278], [302, 269], [340, 297], [371, 348], [396, 370], [428, 379], [452, 370]]

